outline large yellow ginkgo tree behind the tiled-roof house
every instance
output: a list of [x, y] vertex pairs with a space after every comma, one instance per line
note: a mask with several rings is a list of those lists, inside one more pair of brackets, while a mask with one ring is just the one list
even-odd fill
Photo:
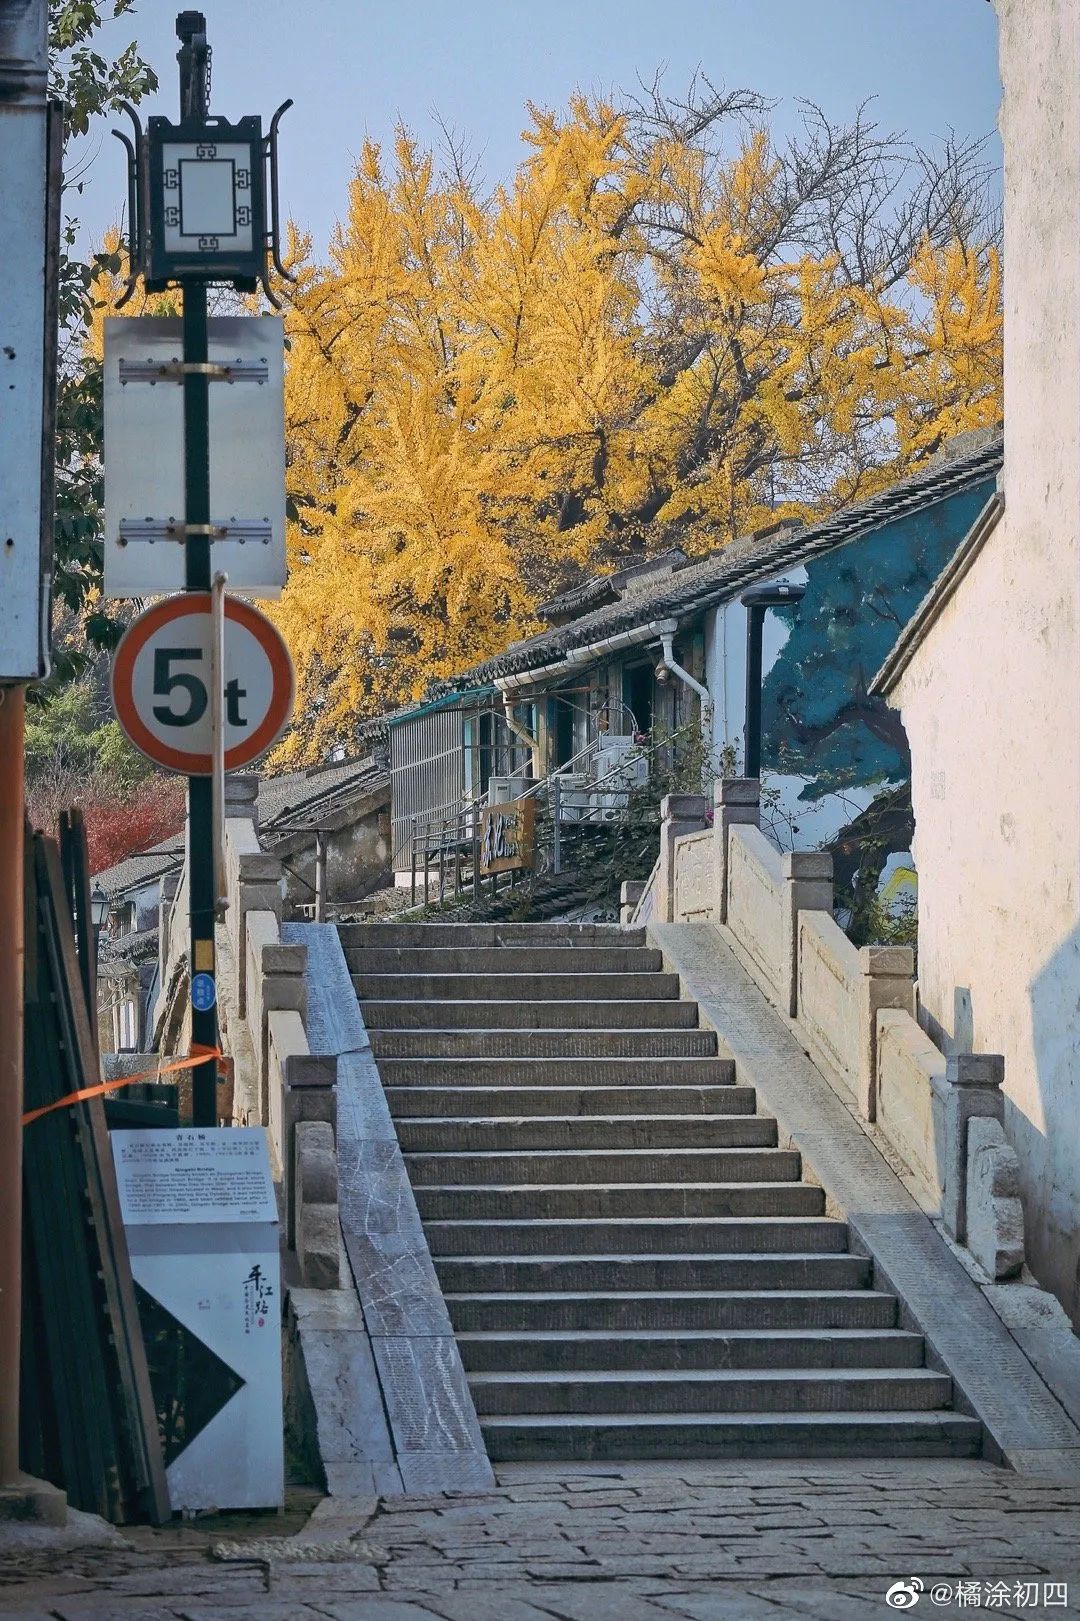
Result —
[[287, 759], [537, 627], [582, 571], [869, 494], [1001, 417], [979, 149], [770, 139], [709, 86], [530, 109], [485, 195], [365, 146], [285, 292]]

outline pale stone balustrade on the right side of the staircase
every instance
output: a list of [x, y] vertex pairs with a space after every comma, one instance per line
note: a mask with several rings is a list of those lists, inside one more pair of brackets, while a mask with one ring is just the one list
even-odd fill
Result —
[[1023, 1217], [1002, 1060], [939, 1052], [916, 1018], [911, 948], [848, 940], [832, 916], [832, 858], [777, 849], [756, 781], [717, 783], [712, 827], [697, 794], [670, 796], [662, 817], [654, 916], [722, 929], [830, 1086], [900, 1157], [923, 1208], [992, 1277], [1012, 1276]]

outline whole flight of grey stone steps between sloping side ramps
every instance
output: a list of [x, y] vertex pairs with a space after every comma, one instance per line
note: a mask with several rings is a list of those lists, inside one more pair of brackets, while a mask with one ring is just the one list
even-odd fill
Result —
[[341, 937], [493, 1461], [979, 1451], [642, 930]]

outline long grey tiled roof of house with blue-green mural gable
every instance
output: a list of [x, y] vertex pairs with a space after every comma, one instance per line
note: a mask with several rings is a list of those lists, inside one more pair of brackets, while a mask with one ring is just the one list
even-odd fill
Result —
[[997, 475], [1004, 457], [1004, 436], [997, 428], [962, 434], [932, 457], [924, 467], [902, 478], [869, 501], [834, 512], [821, 524], [804, 528], [783, 528], [775, 537], [757, 543], [735, 541], [701, 562], [676, 567], [658, 580], [642, 580], [639, 588], [628, 590], [618, 601], [584, 613], [569, 624], [542, 631], [527, 640], [514, 642], [504, 653], [462, 671], [449, 681], [438, 682], [431, 694], [456, 692], [480, 686], [498, 676], [519, 674], [540, 665], [553, 663], [577, 647], [587, 647], [603, 637], [616, 635], [650, 619], [678, 619], [699, 613], [715, 603], [728, 601], [756, 580], [770, 579], [785, 569], [798, 567], [809, 558], [843, 546], [846, 541], [871, 530], [884, 528], [923, 507], [945, 501], [971, 485]]

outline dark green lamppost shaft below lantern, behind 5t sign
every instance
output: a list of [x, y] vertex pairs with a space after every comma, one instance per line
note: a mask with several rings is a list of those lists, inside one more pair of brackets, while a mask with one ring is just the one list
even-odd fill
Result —
[[[183, 360], [206, 365], [208, 316], [206, 287], [186, 282], [183, 287]], [[183, 373], [183, 496], [185, 524], [208, 525], [209, 512], [209, 381], [204, 371]], [[206, 592], [209, 622], [211, 540], [209, 535], [185, 537], [185, 585], [190, 592]], [[209, 776], [188, 776], [188, 905], [191, 916], [191, 977], [209, 974], [216, 981], [214, 961], [214, 801]], [[191, 1041], [203, 1047], [217, 1046], [217, 1003], [196, 1008], [191, 1003]], [[195, 1125], [217, 1125], [217, 1060], [208, 1059], [191, 1070], [191, 1120]]]

